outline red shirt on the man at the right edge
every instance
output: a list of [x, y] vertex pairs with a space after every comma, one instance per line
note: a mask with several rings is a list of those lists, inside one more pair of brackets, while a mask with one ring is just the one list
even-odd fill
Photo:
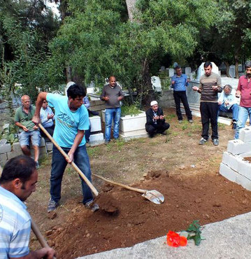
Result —
[[239, 78], [237, 90], [241, 91], [240, 106], [251, 107], [251, 80], [248, 82], [247, 76]]

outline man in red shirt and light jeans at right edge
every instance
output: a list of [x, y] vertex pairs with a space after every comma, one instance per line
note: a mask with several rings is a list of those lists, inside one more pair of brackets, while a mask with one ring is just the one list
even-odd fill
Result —
[[[250, 118], [251, 123], [251, 62], [245, 64], [246, 75], [239, 79], [236, 97], [241, 97], [240, 109], [238, 113], [238, 122], [236, 126], [235, 139], [239, 137], [239, 131], [245, 127], [245, 123]], [[251, 125], [251, 124], [250, 124]]]

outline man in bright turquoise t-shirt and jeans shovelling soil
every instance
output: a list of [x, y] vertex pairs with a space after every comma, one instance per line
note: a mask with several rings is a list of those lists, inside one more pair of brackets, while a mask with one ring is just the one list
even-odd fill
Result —
[[[50, 201], [48, 212], [54, 211], [59, 206], [61, 198], [62, 178], [67, 162], [73, 160], [87, 179], [92, 182], [89, 158], [85, 147], [85, 130], [89, 129], [88, 111], [83, 105], [85, 90], [79, 85], [71, 85], [67, 90], [67, 97], [60, 94], [50, 94], [41, 92], [36, 100], [36, 111], [33, 122], [40, 123], [39, 112], [43, 100], [47, 100], [50, 106], [55, 109], [55, 130], [53, 138], [62, 147], [69, 159], [53, 146], [52, 150], [52, 170], [50, 176]], [[92, 211], [99, 209], [98, 204], [94, 203], [92, 191], [85, 181], [81, 179], [83, 190], [83, 204]]]

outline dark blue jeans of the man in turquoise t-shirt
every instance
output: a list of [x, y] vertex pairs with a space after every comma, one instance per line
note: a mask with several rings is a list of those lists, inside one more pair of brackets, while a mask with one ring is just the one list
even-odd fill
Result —
[[[67, 154], [71, 148], [62, 148]], [[91, 169], [89, 166], [89, 158], [87, 151], [84, 146], [79, 146], [74, 153], [74, 162], [79, 167], [79, 169], [85, 174], [87, 179], [92, 182]], [[55, 202], [59, 202], [61, 198], [61, 186], [62, 179], [64, 175], [64, 169], [66, 168], [66, 162], [64, 156], [59, 152], [59, 150], [53, 146], [52, 151], [52, 171], [50, 174], [50, 196]], [[76, 173], [77, 174], [77, 173]], [[80, 177], [83, 191], [83, 204], [93, 200], [92, 190], [87, 186], [85, 181]]]

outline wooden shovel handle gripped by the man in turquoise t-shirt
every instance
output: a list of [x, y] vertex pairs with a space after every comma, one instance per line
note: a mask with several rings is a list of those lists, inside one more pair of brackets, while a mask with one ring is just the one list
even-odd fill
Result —
[[[69, 155], [67, 155], [63, 151], [62, 147], [59, 146], [59, 144], [57, 144], [57, 142], [50, 136], [48, 131], [45, 130], [45, 128], [41, 125], [41, 123], [38, 123], [38, 126], [41, 128], [41, 130], [44, 132], [44, 134], [48, 137], [48, 139], [50, 139], [50, 141], [52, 141], [52, 143], [56, 146], [56, 148], [59, 150], [59, 152], [62, 153], [62, 155], [64, 155], [64, 158], [69, 158]], [[78, 168], [78, 166], [74, 162], [71, 162], [71, 165], [76, 170], [76, 172], [78, 172], [78, 174], [82, 177], [82, 179], [85, 181], [85, 183], [87, 183], [87, 186], [89, 186], [89, 188], [92, 190], [92, 193], [94, 193], [95, 196], [98, 196], [99, 195], [98, 191], [93, 186], [93, 184], [87, 179], [85, 174], [83, 174], [83, 172]]]

